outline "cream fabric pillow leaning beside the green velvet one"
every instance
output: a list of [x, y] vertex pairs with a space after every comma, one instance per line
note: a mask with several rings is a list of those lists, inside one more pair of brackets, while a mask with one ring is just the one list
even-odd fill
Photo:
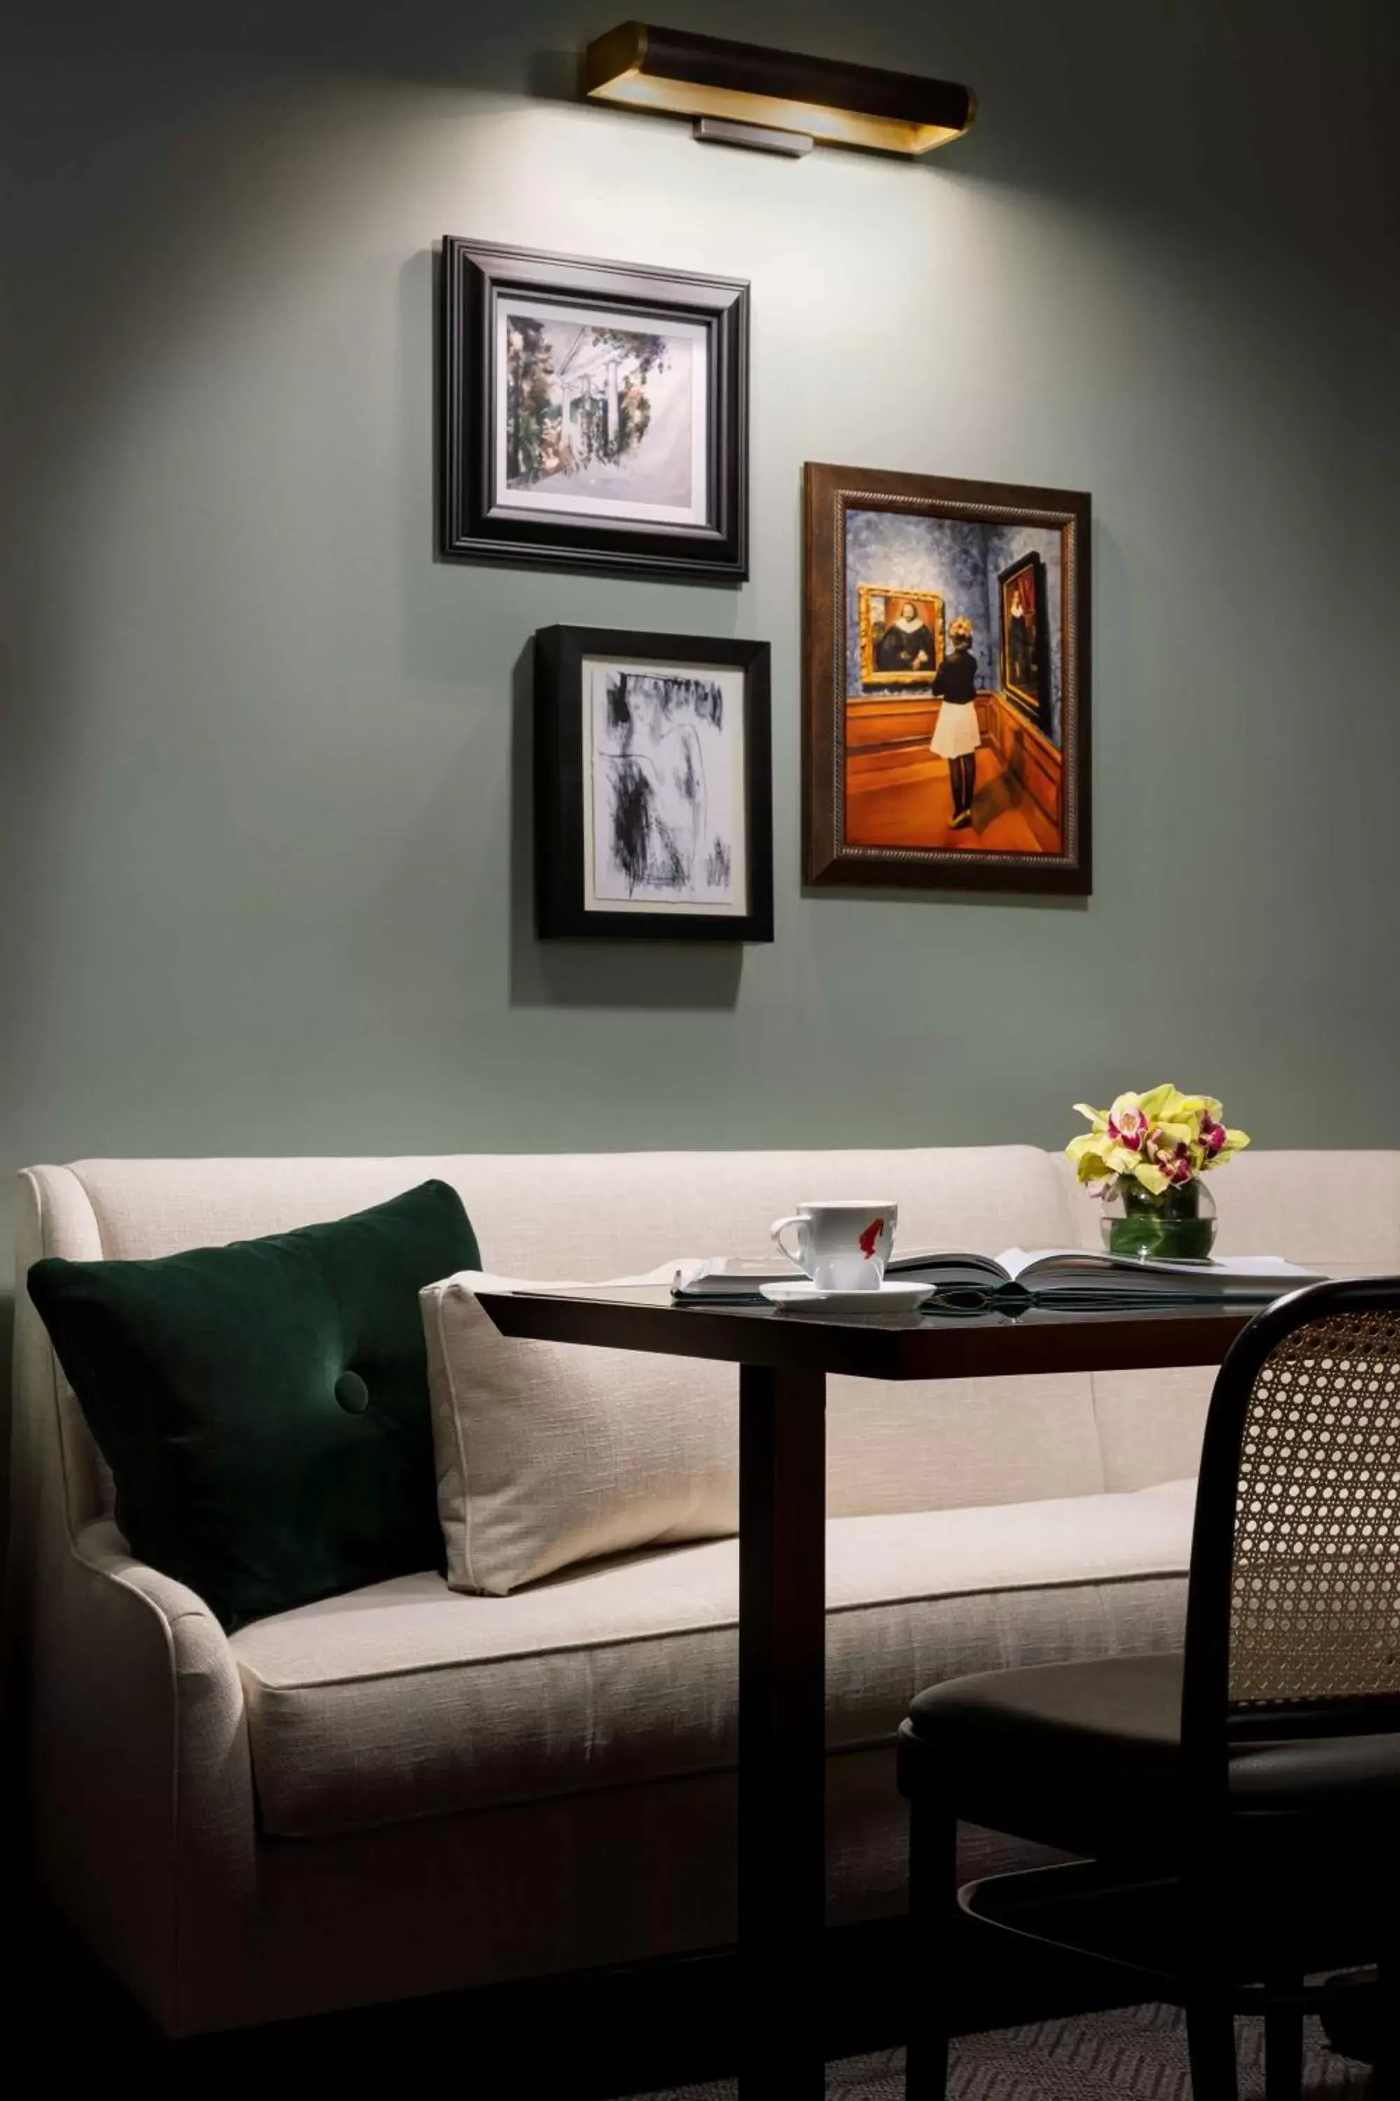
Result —
[[571, 1561], [735, 1532], [733, 1366], [516, 1343], [476, 1298], [500, 1282], [420, 1294], [449, 1584], [504, 1597]]

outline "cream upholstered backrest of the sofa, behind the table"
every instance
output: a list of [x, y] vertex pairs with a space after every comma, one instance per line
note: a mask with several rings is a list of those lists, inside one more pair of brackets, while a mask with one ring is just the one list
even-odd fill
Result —
[[[84, 1160], [57, 1172], [63, 1202], [52, 1206], [48, 1248], [170, 1254], [338, 1219], [430, 1177], [466, 1200], [491, 1269], [516, 1275], [607, 1277], [672, 1254], [762, 1254], [772, 1216], [800, 1198], [842, 1193], [896, 1195], [905, 1246], [1098, 1246], [1098, 1208], [1058, 1153], [966, 1147]], [[1213, 1187], [1226, 1254], [1400, 1273], [1398, 1151], [1255, 1147]], [[1213, 1376], [1201, 1368], [930, 1387], [831, 1380], [831, 1511], [1028, 1502], [1192, 1475]], [[82, 1479], [71, 1456], [67, 1475]], [[73, 1515], [84, 1521], [92, 1511]]]

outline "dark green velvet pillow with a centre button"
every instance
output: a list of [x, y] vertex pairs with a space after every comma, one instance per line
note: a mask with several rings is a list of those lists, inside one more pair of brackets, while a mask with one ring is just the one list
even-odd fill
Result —
[[132, 1553], [233, 1630], [443, 1565], [418, 1292], [479, 1267], [430, 1181], [229, 1248], [36, 1263], [29, 1296]]

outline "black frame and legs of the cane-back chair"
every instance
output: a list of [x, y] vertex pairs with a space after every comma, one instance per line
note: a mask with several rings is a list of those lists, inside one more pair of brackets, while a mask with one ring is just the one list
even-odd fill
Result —
[[[1268, 2101], [1299, 2101], [1303, 2013], [1327, 2013], [1343, 1983], [1354, 2009], [1356, 1971], [1377, 1964], [1373, 2093], [1400, 2101], [1400, 1828], [1392, 1828], [1400, 1826], [1400, 1815], [1381, 1819], [1369, 1834], [1364, 1861], [1339, 1870], [1343, 1891], [1329, 1910], [1333, 1889], [1329, 1861], [1316, 1845], [1320, 1826], [1299, 1845], [1303, 1826], [1295, 1819], [1243, 1819], [1230, 1794], [1238, 1746], [1400, 1733], [1400, 1576], [1394, 1691], [1251, 1700], [1232, 1693], [1240, 1462], [1255, 1391], [1293, 1336], [1354, 1315], [1400, 1322], [1400, 1280], [1348, 1280], [1293, 1292], [1245, 1328], [1219, 1368], [1192, 1534], [1182, 1824], [1169, 1859], [1154, 1853], [1157, 1834], [1148, 1834], [1140, 1861], [1075, 1859], [957, 1891], [957, 1803], [936, 1801], [932, 1786], [921, 1782], [928, 1750], [905, 1723], [900, 1784], [911, 1798], [913, 1927], [909, 2101], [942, 2101], [947, 2090], [953, 2023], [945, 1985], [953, 1950], [966, 1941], [959, 1912], [1108, 1964], [1123, 2002], [1161, 1998], [1184, 2006], [1196, 2101], [1236, 2101], [1234, 2017], [1249, 2011], [1261, 2011], [1266, 2021]], [[1400, 1349], [1396, 1359], [1400, 1364]], [[1400, 1429], [1400, 1393], [1394, 1410]], [[1400, 1506], [1394, 1515], [1400, 1563]], [[1318, 1891], [1318, 1910], [1312, 1910], [1310, 1891]], [[1331, 1981], [1308, 1983], [1324, 1971], [1333, 1973]]]

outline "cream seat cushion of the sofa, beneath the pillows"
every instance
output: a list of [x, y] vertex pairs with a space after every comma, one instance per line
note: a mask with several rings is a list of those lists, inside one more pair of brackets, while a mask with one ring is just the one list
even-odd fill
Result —
[[[1180, 1645], [1194, 1483], [827, 1525], [827, 1742], [930, 1683]], [[739, 1544], [510, 1597], [401, 1576], [241, 1628], [262, 1828], [298, 1838], [733, 1767]]]

